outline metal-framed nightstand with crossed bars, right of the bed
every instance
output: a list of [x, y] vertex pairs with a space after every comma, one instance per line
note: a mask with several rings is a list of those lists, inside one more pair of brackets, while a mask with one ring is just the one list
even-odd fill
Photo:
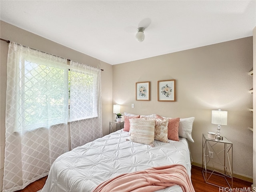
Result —
[[[233, 187], [233, 144], [226, 137], [223, 140], [209, 139], [203, 134], [202, 173], [204, 181], [218, 187]], [[217, 175], [217, 176], [216, 176]], [[228, 186], [218, 185], [223, 179]]]

